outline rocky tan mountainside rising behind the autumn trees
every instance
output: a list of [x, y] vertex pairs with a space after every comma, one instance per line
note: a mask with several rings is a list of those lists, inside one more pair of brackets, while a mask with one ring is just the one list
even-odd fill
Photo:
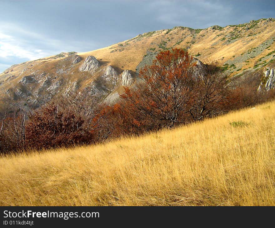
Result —
[[217, 60], [231, 76], [263, 74], [265, 67], [274, 67], [274, 41], [274, 18], [226, 27], [147, 32], [95, 51], [63, 52], [13, 65], [0, 74], [0, 104], [22, 100], [39, 107], [58, 94], [68, 96], [83, 89], [112, 101], [122, 86], [135, 82], [139, 69], [157, 52], [172, 47], [184, 48], [202, 62]]

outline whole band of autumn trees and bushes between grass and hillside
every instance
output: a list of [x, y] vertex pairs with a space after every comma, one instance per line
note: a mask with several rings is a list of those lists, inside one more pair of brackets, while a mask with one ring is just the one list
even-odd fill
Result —
[[177, 48], [158, 53], [139, 78], [133, 87], [124, 87], [114, 105], [80, 92], [36, 110], [6, 107], [0, 115], [1, 153], [100, 143], [201, 121], [275, 97], [273, 90], [257, 91], [260, 74], [230, 78], [217, 62], [198, 66]]

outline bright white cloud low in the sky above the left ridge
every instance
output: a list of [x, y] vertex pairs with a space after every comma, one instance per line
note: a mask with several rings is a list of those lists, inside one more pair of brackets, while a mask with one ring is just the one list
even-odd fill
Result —
[[60, 52], [84, 51], [81, 49], [85, 46], [93, 46], [93, 42], [68, 40], [66, 37], [54, 39], [15, 23], [0, 22], [0, 72], [13, 64]]

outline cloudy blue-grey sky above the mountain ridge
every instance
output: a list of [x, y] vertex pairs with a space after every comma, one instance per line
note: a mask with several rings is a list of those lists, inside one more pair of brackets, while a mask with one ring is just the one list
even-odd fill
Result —
[[275, 17], [265, 0], [0, 0], [0, 72], [13, 64], [87, 52], [144, 32]]

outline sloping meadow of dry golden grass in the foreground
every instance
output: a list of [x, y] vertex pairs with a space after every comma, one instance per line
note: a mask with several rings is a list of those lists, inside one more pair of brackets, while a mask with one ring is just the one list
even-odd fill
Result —
[[0, 205], [275, 206], [274, 116], [270, 102], [104, 145], [2, 157]]

